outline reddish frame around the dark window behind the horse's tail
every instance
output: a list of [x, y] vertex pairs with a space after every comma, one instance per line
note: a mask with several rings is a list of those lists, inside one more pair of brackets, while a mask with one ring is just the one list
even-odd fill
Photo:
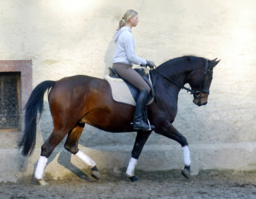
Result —
[[[28, 97], [30, 96], [33, 86], [32, 86], [32, 60], [0, 60], [0, 72], [20, 72], [20, 123], [23, 122], [23, 109]], [[22, 131], [22, 125], [18, 128], [2, 128], [0, 133], [8, 132], [18, 132]]]

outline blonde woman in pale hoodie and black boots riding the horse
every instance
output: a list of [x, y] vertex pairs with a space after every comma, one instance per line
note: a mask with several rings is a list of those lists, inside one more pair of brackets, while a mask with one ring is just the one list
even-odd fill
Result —
[[[128, 10], [124, 13], [124, 16], [120, 20], [119, 28], [115, 32], [114, 41], [116, 44], [112, 66], [124, 80], [127, 80], [140, 91], [136, 99], [134, 111], [133, 128], [136, 131], [149, 129], [149, 125], [143, 120], [143, 115], [151, 88], [139, 73], [132, 69], [132, 65], [138, 64], [153, 67], [152, 61], [146, 61], [146, 59], [136, 56], [134, 52], [135, 42], [134, 36], [132, 35], [132, 28], [136, 27], [138, 23], [139, 19], [136, 11]], [[151, 128], [154, 128], [154, 126], [151, 126]]]

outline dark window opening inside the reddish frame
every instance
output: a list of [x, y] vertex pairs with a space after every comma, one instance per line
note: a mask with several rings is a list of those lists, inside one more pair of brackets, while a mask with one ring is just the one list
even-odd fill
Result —
[[0, 128], [18, 129], [21, 124], [21, 72], [0, 73]]

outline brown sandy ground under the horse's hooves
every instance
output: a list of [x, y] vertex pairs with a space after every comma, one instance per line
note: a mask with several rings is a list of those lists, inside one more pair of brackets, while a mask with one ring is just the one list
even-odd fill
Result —
[[85, 174], [39, 186], [33, 177], [0, 183], [0, 198], [256, 198], [256, 172], [201, 171], [185, 179], [179, 170], [136, 171], [132, 183], [124, 172], [102, 171], [98, 181]]

